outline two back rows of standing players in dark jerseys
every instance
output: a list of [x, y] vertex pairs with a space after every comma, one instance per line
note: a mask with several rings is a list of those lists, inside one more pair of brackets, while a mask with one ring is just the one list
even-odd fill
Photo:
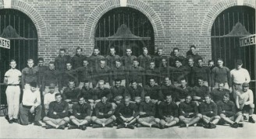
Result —
[[[174, 48], [171, 57], [162, 56], [162, 49], [158, 49], [157, 55], [151, 58], [148, 56], [148, 49], [144, 48], [144, 54], [135, 57], [130, 48], [126, 49], [126, 56], [119, 57], [116, 55], [114, 48], [110, 48], [110, 55], [103, 57], [99, 55], [97, 47], [91, 57], [85, 57], [81, 54], [81, 48], [76, 49], [76, 55], [70, 58], [65, 55], [66, 50], [59, 51], [59, 57], [55, 58], [55, 62], [50, 62], [48, 68], [44, 66], [44, 59], [38, 59], [38, 66], [33, 68], [34, 61], [28, 60], [28, 68], [24, 68], [22, 73], [23, 89], [29, 82], [37, 82], [44, 91], [48, 82], [58, 84], [59, 91], [67, 87], [69, 78], [73, 78], [78, 82], [90, 80], [93, 87], [96, 86], [98, 80], [102, 79], [106, 85], [113, 85], [115, 78], [123, 80], [122, 85], [137, 79], [138, 82], [145, 85], [148, 78], [155, 76], [158, 84], [163, 82], [165, 76], [169, 76], [176, 85], [179, 78], [187, 78], [188, 85], [194, 86], [197, 78], [201, 77], [205, 81], [205, 85], [210, 87], [218, 87], [219, 82], [225, 82], [226, 86], [231, 86], [231, 78], [229, 69], [224, 67], [224, 71], [214, 69], [214, 61], [210, 61], [209, 67], [203, 66], [203, 59], [195, 54], [195, 47], [191, 46], [191, 53], [187, 54], [187, 58], [179, 54], [179, 49]], [[222, 60], [220, 60], [222, 61]], [[219, 63], [219, 62], [218, 62]], [[218, 65], [223, 67], [223, 61]], [[80, 84], [80, 87], [82, 84]]]

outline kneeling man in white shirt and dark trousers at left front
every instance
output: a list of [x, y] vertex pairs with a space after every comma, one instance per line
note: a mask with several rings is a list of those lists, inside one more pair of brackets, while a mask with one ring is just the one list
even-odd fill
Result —
[[28, 125], [30, 118], [34, 116], [34, 125], [41, 126], [41, 95], [37, 89], [37, 82], [30, 82], [30, 89], [23, 92], [22, 103], [20, 103], [20, 124]]

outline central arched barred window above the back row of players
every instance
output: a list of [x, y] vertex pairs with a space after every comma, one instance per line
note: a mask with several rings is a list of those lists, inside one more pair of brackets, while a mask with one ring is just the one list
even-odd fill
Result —
[[142, 47], [148, 47], [154, 54], [154, 31], [147, 16], [137, 9], [116, 8], [99, 19], [95, 30], [95, 46], [101, 55], [108, 55], [109, 47], [116, 48], [116, 54], [123, 56], [126, 47], [131, 47], [133, 55], [142, 54]]

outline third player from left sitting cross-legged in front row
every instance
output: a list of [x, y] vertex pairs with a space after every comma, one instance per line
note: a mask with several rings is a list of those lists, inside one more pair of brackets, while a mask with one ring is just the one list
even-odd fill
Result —
[[103, 94], [101, 102], [95, 106], [96, 116], [92, 116], [91, 121], [94, 122], [93, 128], [113, 127], [116, 116], [113, 115], [112, 104], [107, 102], [108, 98]]

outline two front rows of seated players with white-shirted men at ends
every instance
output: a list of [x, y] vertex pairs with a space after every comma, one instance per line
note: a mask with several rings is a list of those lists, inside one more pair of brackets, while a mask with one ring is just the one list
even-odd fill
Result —
[[[198, 88], [205, 87], [201, 78], [197, 82]], [[65, 129], [67, 123], [70, 123], [69, 129], [85, 130], [90, 123], [96, 128], [113, 127], [115, 122], [117, 128], [133, 129], [136, 122], [137, 127], [165, 128], [179, 121], [180, 127], [198, 124], [205, 128], [215, 128], [217, 123], [226, 122], [237, 128], [243, 127], [240, 122], [247, 110], [248, 121], [255, 123], [252, 118], [254, 97], [247, 82], [244, 82], [241, 90], [236, 91], [236, 98], [233, 98], [229, 90], [223, 89], [224, 83], [209, 93], [208, 89], [200, 92], [196, 87], [188, 87], [185, 79], [180, 80], [179, 88], [175, 87], [171, 85], [169, 77], [165, 78], [165, 87], [156, 85], [154, 78], [150, 78], [150, 85], [144, 89], [136, 81], [131, 82], [127, 89], [120, 85], [119, 79], [116, 79], [111, 89], [105, 88], [104, 84], [100, 80], [98, 88], [91, 89], [87, 81], [80, 90], [70, 81], [63, 94], [55, 92], [55, 85], [51, 84], [50, 91], [44, 95], [47, 116], [44, 116], [43, 121], [47, 124], [46, 128]], [[41, 120], [40, 97], [37, 83], [30, 83], [30, 89], [24, 90], [23, 101], [20, 103], [21, 124], [27, 125], [30, 115], [34, 114], [34, 124], [41, 126], [38, 122]]]

